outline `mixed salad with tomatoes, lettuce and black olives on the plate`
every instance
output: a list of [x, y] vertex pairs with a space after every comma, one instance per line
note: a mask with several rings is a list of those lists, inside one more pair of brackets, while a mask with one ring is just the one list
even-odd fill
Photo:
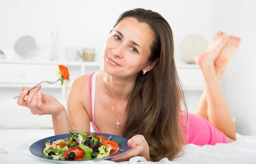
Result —
[[113, 141], [98, 133], [70, 132], [66, 139], [46, 140], [42, 157], [57, 160], [91, 160], [113, 155], [119, 149], [120, 141]]

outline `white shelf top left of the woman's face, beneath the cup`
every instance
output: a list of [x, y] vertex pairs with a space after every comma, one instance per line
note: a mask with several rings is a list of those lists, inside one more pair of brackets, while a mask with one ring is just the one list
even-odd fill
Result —
[[101, 66], [101, 62], [66, 62], [66, 61], [8, 61], [8, 60], [0, 60], [0, 63], [4, 64], [33, 64], [33, 65], [66, 65], [66, 66]]

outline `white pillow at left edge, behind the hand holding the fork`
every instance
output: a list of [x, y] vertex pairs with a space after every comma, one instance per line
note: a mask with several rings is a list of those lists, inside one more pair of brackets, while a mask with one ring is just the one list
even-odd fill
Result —
[[[59, 100], [66, 107], [66, 100]], [[29, 108], [17, 105], [17, 99], [0, 100], [0, 129], [53, 128], [51, 115], [33, 115]]]

